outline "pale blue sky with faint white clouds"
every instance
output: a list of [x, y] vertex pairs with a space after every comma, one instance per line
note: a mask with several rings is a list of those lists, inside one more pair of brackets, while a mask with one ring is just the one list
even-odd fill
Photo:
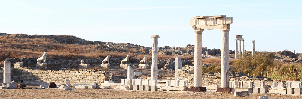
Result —
[[[302, 52], [300, 0], [0, 0], [0, 33], [74, 35], [89, 41], [151, 47], [194, 45], [193, 16], [226, 15], [230, 50], [243, 35], [245, 50]], [[202, 46], [221, 49], [220, 30], [205, 30]]]

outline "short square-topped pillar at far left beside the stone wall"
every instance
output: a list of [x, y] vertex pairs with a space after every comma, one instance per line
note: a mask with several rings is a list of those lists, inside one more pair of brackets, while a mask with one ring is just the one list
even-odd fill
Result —
[[3, 83], [10, 83], [11, 82], [11, 62], [4, 61], [3, 66]]

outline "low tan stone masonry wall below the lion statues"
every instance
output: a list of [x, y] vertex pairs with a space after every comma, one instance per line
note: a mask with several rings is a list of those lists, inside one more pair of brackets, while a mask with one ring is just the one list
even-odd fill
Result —
[[109, 80], [110, 75], [106, 71], [100, 69], [79, 69], [79, 70], [33, 70], [29, 68], [20, 68], [14, 70], [14, 75], [19, 76], [23, 80], [31, 82], [58, 82], [64, 83], [68, 78], [71, 83], [102, 83]]

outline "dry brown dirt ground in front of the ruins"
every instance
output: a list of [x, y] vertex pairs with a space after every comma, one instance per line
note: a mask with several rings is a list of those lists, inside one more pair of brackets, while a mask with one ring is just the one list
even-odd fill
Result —
[[[189, 93], [180, 91], [126, 91], [113, 89], [0, 89], [3, 99], [259, 99], [259, 95], [235, 97], [231, 93]], [[263, 96], [263, 94], [262, 94]], [[269, 95], [270, 99], [298, 99], [302, 96]]]

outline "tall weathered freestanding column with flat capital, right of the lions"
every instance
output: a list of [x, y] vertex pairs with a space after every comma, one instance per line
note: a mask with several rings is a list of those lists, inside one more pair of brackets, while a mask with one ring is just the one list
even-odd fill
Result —
[[151, 64], [151, 80], [157, 80], [157, 38], [159, 35], [152, 35], [152, 64]]

